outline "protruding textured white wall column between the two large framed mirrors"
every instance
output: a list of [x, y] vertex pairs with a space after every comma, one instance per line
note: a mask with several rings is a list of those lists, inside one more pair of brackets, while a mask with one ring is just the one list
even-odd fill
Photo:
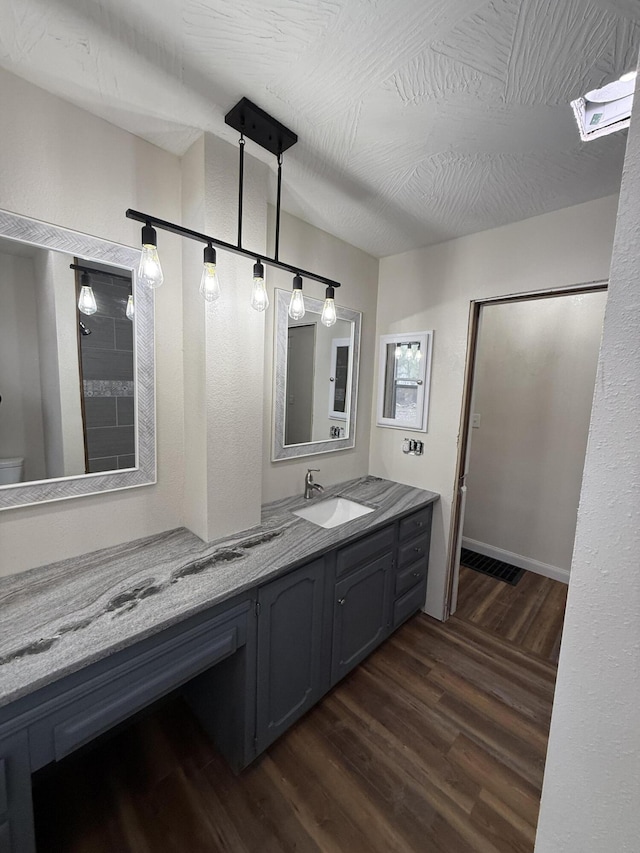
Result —
[[[187, 153], [183, 174], [185, 224], [236, 243], [237, 146], [206, 134]], [[266, 166], [247, 151], [242, 242], [260, 253], [266, 178]], [[209, 541], [260, 521], [265, 315], [249, 304], [253, 261], [221, 251], [220, 299], [204, 301], [203, 248], [184, 248], [185, 520]]]

